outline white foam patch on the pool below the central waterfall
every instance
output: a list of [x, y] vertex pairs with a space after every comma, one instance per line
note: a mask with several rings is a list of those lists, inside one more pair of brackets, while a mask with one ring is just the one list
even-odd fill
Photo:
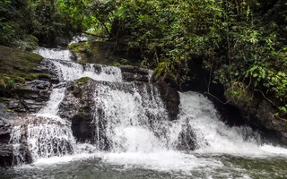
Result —
[[124, 165], [126, 168], [143, 167], [157, 171], [174, 171], [191, 175], [196, 168], [222, 167], [221, 161], [208, 158], [197, 158], [195, 155], [185, 154], [174, 150], [158, 150], [156, 152], [122, 152], [108, 153], [102, 156], [105, 162], [113, 165]]

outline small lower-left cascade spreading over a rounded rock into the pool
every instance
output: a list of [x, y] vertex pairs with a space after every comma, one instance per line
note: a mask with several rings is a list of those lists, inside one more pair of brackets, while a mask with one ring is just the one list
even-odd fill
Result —
[[27, 125], [27, 142], [33, 161], [39, 158], [60, 157], [74, 153], [75, 140], [71, 124], [60, 118], [31, 117]]

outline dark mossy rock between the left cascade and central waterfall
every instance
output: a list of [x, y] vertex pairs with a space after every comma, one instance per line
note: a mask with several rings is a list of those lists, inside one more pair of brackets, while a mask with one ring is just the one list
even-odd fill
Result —
[[[91, 81], [91, 80], [90, 80]], [[58, 115], [72, 121], [72, 130], [77, 141], [93, 140], [91, 107], [95, 86], [88, 83], [69, 82], [66, 86], [65, 99], [59, 106]]]

